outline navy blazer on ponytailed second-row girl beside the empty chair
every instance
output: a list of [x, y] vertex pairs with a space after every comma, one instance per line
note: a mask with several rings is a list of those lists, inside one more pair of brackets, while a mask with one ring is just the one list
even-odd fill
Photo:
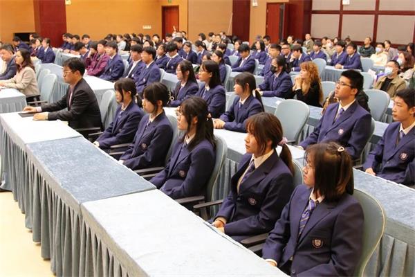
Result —
[[243, 105], [239, 107], [239, 96], [235, 97], [232, 106], [228, 111], [221, 115], [220, 119], [225, 121], [223, 128], [234, 132], [246, 132], [245, 122], [254, 114], [264, 111], [261, 102], [252, 94], [245, 100]]

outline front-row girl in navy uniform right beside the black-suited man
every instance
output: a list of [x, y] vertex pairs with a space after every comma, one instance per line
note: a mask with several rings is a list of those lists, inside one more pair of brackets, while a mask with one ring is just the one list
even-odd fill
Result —
[[131, 143], [144, 116], [142, 109], [134, 102], [137, 91], [133, 80], [122, 78], [114, 84], [114, 88], [120, 106], [116, 110], [113, 122], [93, 143], [103, 150], [109, 150], [111, 145]]

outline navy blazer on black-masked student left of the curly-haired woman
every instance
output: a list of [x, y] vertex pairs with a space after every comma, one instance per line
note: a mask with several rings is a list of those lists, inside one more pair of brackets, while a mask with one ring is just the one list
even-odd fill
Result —
[[278, 77], [275, 78], [275, 74], [268, 74], [262, 84], [259, 84], [259, 89], [262, 91], [262, 96], [266, 97], [280, 97], [280, 98], [292, 98], [291, 91], [293, 90], [293, 82], [291, 76], [282, 71]]

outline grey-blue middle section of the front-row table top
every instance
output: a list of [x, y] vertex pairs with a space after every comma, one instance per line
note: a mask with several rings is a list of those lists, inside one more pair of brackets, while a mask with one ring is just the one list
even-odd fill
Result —
[[71, 208], [156, 187], [83, 137], [29, 143], [28, 159]]

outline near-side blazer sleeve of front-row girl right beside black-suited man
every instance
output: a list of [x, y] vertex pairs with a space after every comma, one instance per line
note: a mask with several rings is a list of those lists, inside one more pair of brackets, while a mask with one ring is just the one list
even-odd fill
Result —
[[[127, 122], [124, 123], [122, 128], [118, 130], [118, 133], [115, 136], [110, 136], [107, 139], [98, 139], [100, 142], [100, 148], [109, 148], [111, 145], [121, 144], [121, 143], [130, 143], [131, 137], [137, 132], [138, 124], [140, 123], [141, 115], [132, 114], [127, 119]], [[112, 126], [113, 123], [111, 123]]]

